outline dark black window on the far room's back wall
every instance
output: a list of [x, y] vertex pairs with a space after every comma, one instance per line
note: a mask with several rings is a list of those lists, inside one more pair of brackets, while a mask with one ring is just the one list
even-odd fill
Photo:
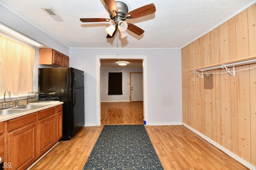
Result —
[[122, 95], [122, 72], [108, 73], [108, 95]]

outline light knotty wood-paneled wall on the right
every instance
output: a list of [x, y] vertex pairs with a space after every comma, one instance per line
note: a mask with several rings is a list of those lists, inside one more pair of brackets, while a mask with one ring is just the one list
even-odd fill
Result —
[[225, 69], [210, 72], [210, 89], [191, 70], [255, 55], [256, 4], [182, 48], [183, 122], [254, 166], [256, 64], [236, 66], [241, 71], [235, 76]]

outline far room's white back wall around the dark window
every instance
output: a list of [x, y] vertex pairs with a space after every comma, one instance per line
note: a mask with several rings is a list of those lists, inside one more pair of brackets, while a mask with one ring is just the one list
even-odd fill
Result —
[[[108, 73], [122, 72], [122, 95], [108, 95]], [[100, 97], [101, 102], [129, 102], [130, 101], [130, 72], [142, 72], [142, 68], [101, 68], [100, 69]]]

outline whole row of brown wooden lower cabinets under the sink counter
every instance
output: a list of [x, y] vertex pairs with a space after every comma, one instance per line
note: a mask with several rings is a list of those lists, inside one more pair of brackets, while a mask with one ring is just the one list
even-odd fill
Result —
[[55, 145], [62, 137], [60, 106], [0, 122], [2, 161], [12, 169], [23, 170]]

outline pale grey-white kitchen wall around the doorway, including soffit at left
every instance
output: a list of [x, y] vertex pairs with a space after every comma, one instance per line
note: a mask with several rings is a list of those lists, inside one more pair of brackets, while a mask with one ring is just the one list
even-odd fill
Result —
[[[70, 66], [85, 72], [85, 123], [96, 125], [96, 55], [146, 55], [148, 123], [182, 123], [181, 52], [179, 49], [68, 49], [52, 37], [0, 6], [0, 22], [70, 57]], [[86, 40], [85, 40], [86, 41]], [[138, 40], [139, 41], [139, 40]], [[152, 40], [154, 41], [154, 40]], [[107, 43], [107, 42], [106, 42]], [[34, 67], [37, 88], [38, 49]], [[145, 73], [144, 73], [145, 74]], [[98, 82], [97, 82], [98, 83]]]

